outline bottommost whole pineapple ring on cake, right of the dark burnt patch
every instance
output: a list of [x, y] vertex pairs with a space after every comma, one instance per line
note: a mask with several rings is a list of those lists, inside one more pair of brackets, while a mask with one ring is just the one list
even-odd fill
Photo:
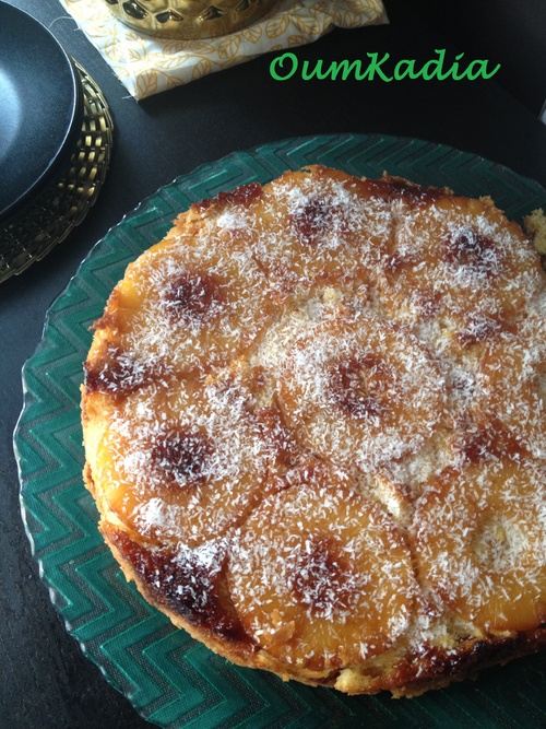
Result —
[[407, 626], [416, 588], [391, 519], [325, 467], [251, 513], [232, 549], [228, 584], [260, 648], [310, 671], [385, 650]]

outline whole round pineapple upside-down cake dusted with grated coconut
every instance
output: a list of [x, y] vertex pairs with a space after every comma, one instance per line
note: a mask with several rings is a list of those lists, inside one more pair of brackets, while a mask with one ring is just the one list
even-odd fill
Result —
[[545, 302], [487, 198], [314, 166], [192, 205], [85, 363], [127, 577], [230, 660], [347, 693], [544, 647]]

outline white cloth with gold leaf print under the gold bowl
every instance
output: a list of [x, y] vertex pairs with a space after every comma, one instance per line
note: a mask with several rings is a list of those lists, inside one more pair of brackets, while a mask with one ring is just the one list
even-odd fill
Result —
[[388, 23], [381, 0], [281, 0], [242, 31], [214, 39], [169, 40], [140, 34], [104, 0], [61, 0], [136, 99], [189, 83], [261, 54], [317, 40], [334, 27]]

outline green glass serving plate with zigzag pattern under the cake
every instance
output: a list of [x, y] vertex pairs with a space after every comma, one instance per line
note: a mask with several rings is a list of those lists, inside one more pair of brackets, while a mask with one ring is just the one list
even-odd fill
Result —
[[54, 303], [23, 371], [24, 408], [14, 436], [22, 512], [52, 602], [84, 654], [161, 727], [545, 727], [544, 654], [411, 701], [351, 697], [232, 666], [146, 604], [97, 530], [98, 515], [81, 477], [79, 410], [91, 324], [126, 266], [159, 240], [191, 202], [311, 163], [369, 177], [388, 171], [461, 195], [490, 195], [515, 219], [546, 205], [546, 190], [537, 183], [475, 155], [420, 140], [356, 134], [289, 139], [237, 152], [141, 203], [93, 248]]

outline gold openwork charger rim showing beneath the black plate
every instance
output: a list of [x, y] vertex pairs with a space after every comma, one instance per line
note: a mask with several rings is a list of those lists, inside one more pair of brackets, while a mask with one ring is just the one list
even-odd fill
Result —
[[114, 121], [103, 92], [74, 61], [83, 86], [82, 131], [70, 162], [31, 208], [0, 224], [0, 282], [64, 240], [95, 203], [110, 161]]

